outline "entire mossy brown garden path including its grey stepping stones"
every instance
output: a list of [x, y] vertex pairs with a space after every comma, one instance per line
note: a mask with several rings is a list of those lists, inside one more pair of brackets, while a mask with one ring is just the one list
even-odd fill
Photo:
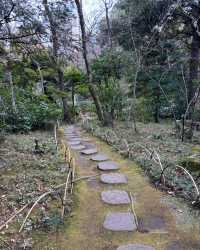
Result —
[[[69, 145], [76, 158], [78, 177], [93, 178], [77, 183], [78, 202], [75, 199], [64, 235], [53, 238], [57, 242], [55, 249], [200, 249], [199, 222], [190, 217], [185, 205], [151, 186], [133, 161], [113, 152], [101, 140], [83, 134], [73, 126], [65, 131], [68, 143], [79, 142]], [[138, 228], [129, 192], [134, 195]], [[46, 249], [46, 245], [37, 249]]]

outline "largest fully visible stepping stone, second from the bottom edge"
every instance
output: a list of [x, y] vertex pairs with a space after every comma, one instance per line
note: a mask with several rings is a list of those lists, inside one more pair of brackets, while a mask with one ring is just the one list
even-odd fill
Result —
[[132, 213], [109, 213], [103, 223], [111, 231], [135, 231], [137, 229]]

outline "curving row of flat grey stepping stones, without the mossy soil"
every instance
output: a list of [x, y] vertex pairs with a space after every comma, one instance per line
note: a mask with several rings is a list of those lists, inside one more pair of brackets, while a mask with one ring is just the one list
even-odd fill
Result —
[[[97, 169], [99, 171], [116, 171], [119, 170], [119, 166], [116, 162], [108, 161], [109, 157], [103, 153], [98, 153], [95, 147], [87, 148], [84, 142], [87, 139], [81, 139], [76, 129], [72, 126], [68, 127], [65, 131], [65, 135], [68, 139], [68, 145], [73, 150], [81, 150], [82, 155], [91, 156], [90, 160], [99, 162]], [[87, 144], [86, 144], [87, 145]], [[84, 148], [84, 150], [82, 150]], [[86, 149], [85, 149], [86, 148]], [[122, 173], [109, 173], [101, 174], [100, 181], [104, 184], [119, 185], [127, 184], [128, 178]], [[109, 205], [129, 205], [130, 197], [124, 190], [105, 190], [101, 193], [101, 200]], [[92, 204], [91, 204], [92, 205]], [[137, 230], [135, 217], [132, 212], [109, 212], [102, 222], [103, 227], [108, 231], [113, 232], [134, 232]], [[119, 246], [117, 250], [153, 250], [154, 248], [144, 245], [124, 245]]]

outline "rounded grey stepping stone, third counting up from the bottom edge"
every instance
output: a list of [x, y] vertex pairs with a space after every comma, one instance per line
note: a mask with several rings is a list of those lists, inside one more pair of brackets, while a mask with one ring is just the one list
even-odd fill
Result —
[[123, 205], [131, 202], [128, 193], [123, 190], [104, 191], [101, 193], [101, 199], [111, 205]]

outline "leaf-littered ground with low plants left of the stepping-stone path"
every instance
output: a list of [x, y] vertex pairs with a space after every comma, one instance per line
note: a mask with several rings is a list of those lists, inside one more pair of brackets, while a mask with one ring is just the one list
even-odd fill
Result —
[[[35, 152], [35, 139], [41, 152]], [[7, 135], [0, 144], [0, 225], [28, 202], [64, 183], [66, 171], [53, 131]], [[19, 234], [26, 209], [0, 232], [0, 249], [32, 249], [35, 229], [48, 234], [60, 225], [60, 203], [52, 196], [39, 204]]]

